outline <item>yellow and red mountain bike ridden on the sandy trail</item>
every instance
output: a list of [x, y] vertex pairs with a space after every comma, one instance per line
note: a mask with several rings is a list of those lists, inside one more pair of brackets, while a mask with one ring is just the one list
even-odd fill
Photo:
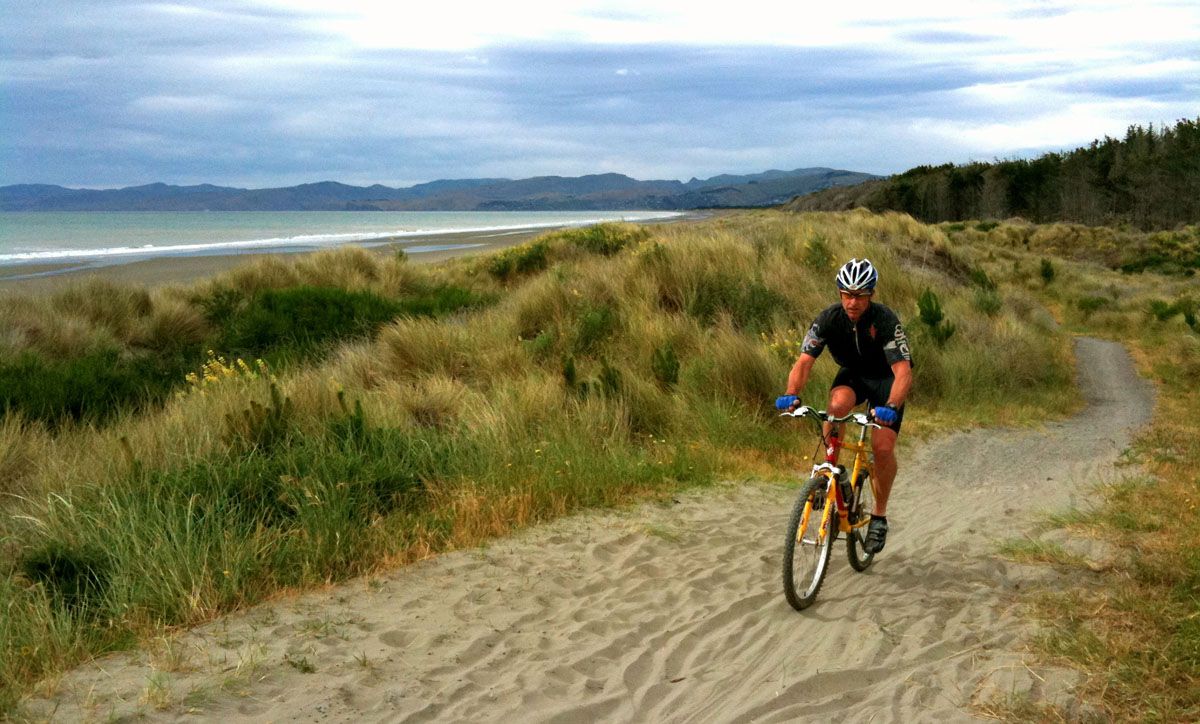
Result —
[[[824, 411], [799, 407], [786, 417], [810, 418], [816, 423], [833, 423], [828, 437], [821, 426], [821, 448], [824, 462], [812, 466], [811, 478], [800, 487], [800, 495], [792, 507], [787, 521], [787, 539], [784, 543], [784, 596], [797, 611], [809, 608], [817, 598], [821, 584], [829, 568], [829, 557], [838, 533], [846, 533], [846, 552], [854, 570], [870, 567], [874, 554], [864, 550], [866, 523], [875, 505], [875, 479], [871, 475], [870, 443], [868, 427], [880, 427], [872, 418], [863, 413], [833, 417]], [[858, 442], [842, 442], [840, 426], [854, 423], [859, 426]], [[838, 463], [842, 449], [854, 453], [851, 469]]]

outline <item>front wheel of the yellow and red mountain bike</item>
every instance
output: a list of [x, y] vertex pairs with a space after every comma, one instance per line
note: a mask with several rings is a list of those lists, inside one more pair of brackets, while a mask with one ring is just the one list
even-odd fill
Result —
[[823, 507], [810, 502], [823, 501], [824, 505], [836, 505], [833, 496], [826, 496], [828, 478], [812, 478], [800, 487], [792, 505], [792, 517], [787, 521], [787, 538], [784, 541], [784, 596], [797, 611], [802, 611], [817, 598], [821, 582], [829, 569], [829, 555], [838, 532], [838, 514], [830, 510], [822, 531]]

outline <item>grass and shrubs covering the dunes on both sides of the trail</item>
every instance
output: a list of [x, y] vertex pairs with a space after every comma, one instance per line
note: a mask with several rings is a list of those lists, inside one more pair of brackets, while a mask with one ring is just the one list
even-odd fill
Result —
[[[1196, 229], [1172, 233], [1194, 239]], [[8, 403], [0, 711], [53, 687], [73, 663], [281, 591], [370, 575], [582, 507], [716, 477], [788, 474], [808, 450], [793, 449], [770, 401], [803, 325], [834, 303], [829, 280], [845, 257], [881, 269], [880, 300], [912, 336], [920, 414], [905, 439], [1076, 409], [1075, 329], [1134, 340], [1146, 371], [1186, 393], [1200, 372], [1187, 265], [1175, 256], [1126, 273], [1097, 264], [1105, 255], [1136, 261], [1127, 244], [1104, 247], [1120, 234], [1133, 232], [754, 213], [556, 232], [437, 267], [350, 249], [266, 257], [191, 287], [5, 300], [0, 364], [103, 353], [167, 370], [167, 382], [144, 397], [112, 393], [125, 401], [103, 414]], [[1145, 258], [1159, 250], [1138, 239]], [[814, 384], [832, 372], [818, 366]], [[119, 382], [112, 389], [125, 389]], [[1188, 508], [1200, 490], [1184, 472], [1200, 451], [1182, 412], [1194, 397], [1180, 405], [1170, 418], [1160, 411], [1163, 424], [1138, 448], [1176, 466], [1145, 481], [1174, 520], [1120, 534], [1164, 557], [1139, 552], [1105, 578], [1110, 596], [1141, 597], [1122, 599], [1110, 632], [1133, 647], [1121, 654], [1128, 666], [1157, 660], [1147, 646], [1200, 645], [1186, 617], [1159, 621], [1157, 644], [1122, 628], [1145, 615], [1138, 600], [1163, 602], [1152, 610], [1172, 616], [1200, 602], [1200, 521]], [[1102, 526], [1141, 521], [1140, 498], [1129, 498], [1116, 491], [1115, 508], [1070, 525], [1124, 540]], [[1122, 588], [1130, 578], [1136, 586]], [[1068, 644], [1105, 640], [1096, 617], [1063, 630], [1075, 636]], [[1055, 651], [1072, 656], [1068, 645]], [[1134, 682], [1138, 671], [1114, 676]], [[1154, 695], [1184, 672], [1156, 670], [1164, 683]], [[1196, 711], [1181, 698], [1135, 700], [1128, 687], [1103, 695], [1118, 689], [1123, 708], [1114, 711]]]

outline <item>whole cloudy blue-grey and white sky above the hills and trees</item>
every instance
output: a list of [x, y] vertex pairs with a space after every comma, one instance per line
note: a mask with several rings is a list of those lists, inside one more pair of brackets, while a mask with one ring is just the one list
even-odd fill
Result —
[[887, 174], [1200, 116], [1196, 0], [0, 0], [0, 185]]

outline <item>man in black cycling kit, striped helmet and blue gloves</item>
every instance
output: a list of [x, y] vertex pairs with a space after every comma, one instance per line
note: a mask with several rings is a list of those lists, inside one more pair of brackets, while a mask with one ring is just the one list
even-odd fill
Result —
[[904, 420], [904, 402], [912, 388], [912, 353], [900, 318], [871, 301], [880, 275], [868, 259], [851, 259], [838, 271], [841, 301], [817, 315], [804, 336], [800, 358], [787, 376], [787, 394], [775, 400], [779, 409], [794, 411], [809, 381], [812, 363], [828, 346], [841, 365], [829, 390], [829, 413], [847, 414], [866, 400], [875, 421], [875, 508], [866, 528], [865, 552], [883, 550], [888, 537], [888, 495], [896, 477], [895, 441]]

